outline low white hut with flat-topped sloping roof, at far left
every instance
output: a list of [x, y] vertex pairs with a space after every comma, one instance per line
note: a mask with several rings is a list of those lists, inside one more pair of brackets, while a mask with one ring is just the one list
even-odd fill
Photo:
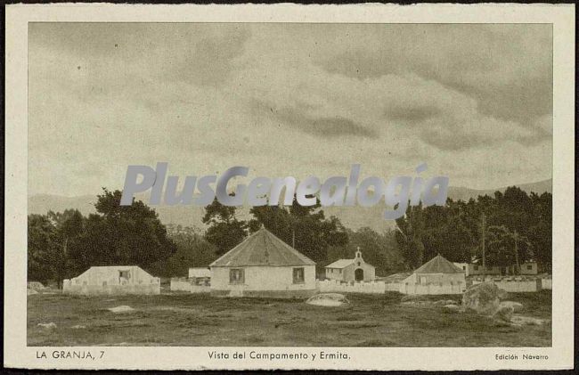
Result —
[[65, 294], [160, 294], [158, 277], [138, 265], [93, 266], [75, 278], [64, 280]]

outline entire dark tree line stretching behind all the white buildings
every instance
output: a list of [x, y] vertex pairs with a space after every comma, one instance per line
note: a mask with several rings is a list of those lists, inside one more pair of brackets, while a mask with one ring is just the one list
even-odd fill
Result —
[[533, 258], [550, 270], [550, 193], [529, 195], [512, 187], [468, 202], [409, 206], [384, 232], [345, 228], [337, 217], [325, 216], [319, 201], [303, 207], [296, 200], [289, 207], [250, 208], [245, 219], [214, 200], [205, 208], [204, 230], [165, 225], [142, 201], [120, 206], [121, 195], [103, 189], [96, 213], [88, 216], [76, 209], [29, 215], [29, 280], [60, 284], [92, 265], [139, 265], [156, 276], [186, 276], [189, 267], [208, 266], [262, 225], [313, 259], [320, 273], [324, 265], [353, 258], [358, 247], [378, 275], [411, 271], [437, 253], [466, 263], [482, 257], [483, 232], [487, 265]]

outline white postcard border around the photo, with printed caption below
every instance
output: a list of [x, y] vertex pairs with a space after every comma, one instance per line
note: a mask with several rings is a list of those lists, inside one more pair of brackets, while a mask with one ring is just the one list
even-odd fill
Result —
[[[575, 7], [549, 4], [6, 6], [4, 365], [38, 369], [569, 369], [574, 361]], [[27, 346], [28, 22], [363, 22], [553, 24], [552, 347], [34, 347]], [[38, 350], [91, 350], [103, 359], [38, 360]], [[212, 360], [208, 350], [261, 353], [345, 352], [346, 361]], [[496, 354], [548, 355], [547, 361], [496, 361]]]

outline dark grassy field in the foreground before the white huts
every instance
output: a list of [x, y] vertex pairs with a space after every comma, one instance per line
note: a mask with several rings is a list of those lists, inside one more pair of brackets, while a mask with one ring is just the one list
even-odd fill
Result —
[[[551, 346], [550, 322], [501, 326], [477, 314], [408, 306], [402, 295], [347, 295], [351, 304], [163, 294], [28, 297], [29, 346]], [[456, 299], [460, 296], [437, 296]], [[549, 319], [550, 290], [510, 294], [521, 314]], [[113, 314], [107, 308], [131, 306]], [[54, 322], [48, 330], [38, 323]], [[73, 329], [75, 325], [84, 328]]]

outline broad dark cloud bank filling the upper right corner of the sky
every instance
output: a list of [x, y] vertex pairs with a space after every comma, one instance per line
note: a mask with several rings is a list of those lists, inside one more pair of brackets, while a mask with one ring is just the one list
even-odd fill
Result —
[[381, 25], [363, 31], [342, 30], [345, 48], [313, 61], [360, 80], [415, 74], [469, 95], [483, 115], [529, 129], [552, 112], [550, 25]]

